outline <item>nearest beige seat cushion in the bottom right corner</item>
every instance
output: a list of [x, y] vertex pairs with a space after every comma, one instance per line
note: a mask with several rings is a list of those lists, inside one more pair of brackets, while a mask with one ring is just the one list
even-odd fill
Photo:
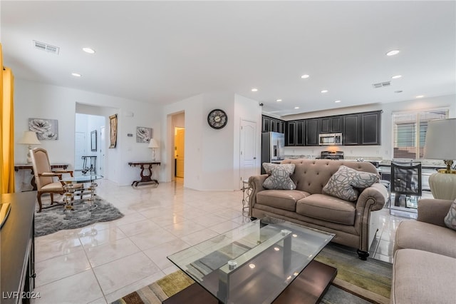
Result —
[[456, 260], [421, 250], [394, 255], [390, 303], [455, 303]]

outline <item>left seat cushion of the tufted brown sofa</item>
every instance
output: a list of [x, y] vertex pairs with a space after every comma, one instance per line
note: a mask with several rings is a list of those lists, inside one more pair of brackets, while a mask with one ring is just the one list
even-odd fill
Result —
[[299, 190], [264, 190], [257, 193], [257, 203], [288, 211], [296, 211], [296, 201], [309, 196]]

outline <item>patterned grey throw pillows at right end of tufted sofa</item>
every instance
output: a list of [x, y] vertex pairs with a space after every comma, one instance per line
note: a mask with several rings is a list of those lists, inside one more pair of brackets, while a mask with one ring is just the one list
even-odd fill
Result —
[[329, 178], [323, 191], [330, 196], [336, 196], [346, 201], [356, 201], [358, 191], [356, 188], [368, 188], [378, 182], [374, 173], [356, 171], [346, 166], [339, 167], [338, 171]]

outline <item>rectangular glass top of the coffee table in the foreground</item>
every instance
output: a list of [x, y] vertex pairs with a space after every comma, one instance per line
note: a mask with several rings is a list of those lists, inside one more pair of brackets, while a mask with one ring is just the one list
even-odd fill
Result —
[[263, 218], [168, 259], [222, 303], [271, 303], [333, 237]]

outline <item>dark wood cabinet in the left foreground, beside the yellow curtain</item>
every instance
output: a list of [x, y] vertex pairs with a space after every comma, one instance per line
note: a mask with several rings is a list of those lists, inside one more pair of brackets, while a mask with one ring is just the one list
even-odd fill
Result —
[[30, 303], [35, 285], [34, 215], [36, 191], [2, 194], [11, 210], [1, 227], [1, 303]]

